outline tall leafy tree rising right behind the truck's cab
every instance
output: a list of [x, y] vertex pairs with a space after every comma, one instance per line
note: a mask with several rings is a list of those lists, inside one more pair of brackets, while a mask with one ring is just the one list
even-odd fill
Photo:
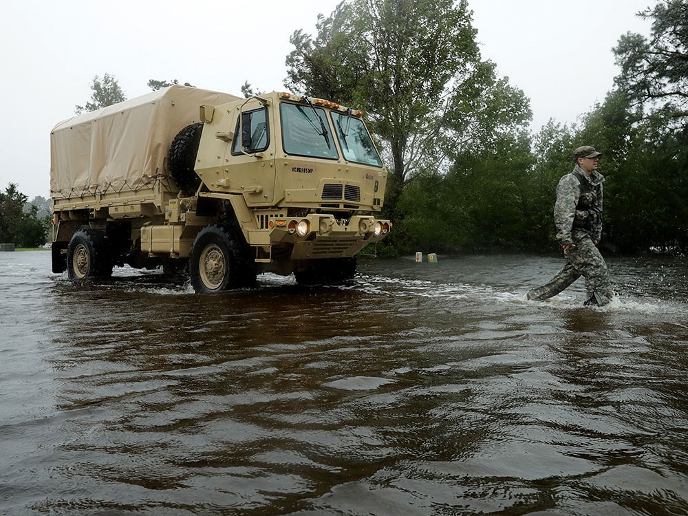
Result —
[[349, 0], [316, 28], [292, 34], [285, 85], [368, 112], [391, 163], [391, 216], [409, 180], [530, 119], [528, 99], [481, 61], [466, 0]]

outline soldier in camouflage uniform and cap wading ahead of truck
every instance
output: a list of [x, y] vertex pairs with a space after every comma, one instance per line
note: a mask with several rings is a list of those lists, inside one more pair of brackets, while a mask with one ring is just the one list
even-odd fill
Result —
[[609, 272], [597, 250], [602, 233], [602, 182], [597, 171], [601, 152], [585, 145], [573, 153], [576, 166], [559, 180], [555, 203], [557, 241], [566, 265], [546, 285], [531, 289], [526, 297], [544, 301], [585, 277], [585, 305], [606, 305], [613, 292]]

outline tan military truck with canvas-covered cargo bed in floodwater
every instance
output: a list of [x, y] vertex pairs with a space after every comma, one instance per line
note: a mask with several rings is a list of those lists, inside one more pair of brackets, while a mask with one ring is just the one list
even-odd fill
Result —
[[52, 270], [188, 267], [195, 292], [354, 276], [385, 237], [387, 169], [362, 112], [272, 92], [172, 86], [51, 133]]

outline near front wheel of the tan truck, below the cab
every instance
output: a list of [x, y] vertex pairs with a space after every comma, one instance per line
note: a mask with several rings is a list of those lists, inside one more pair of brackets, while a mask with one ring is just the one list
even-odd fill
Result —
[[256, 272], [247, 247], [223, 224], [211, 224], [200, 230], [189, 257], [193, 290], [211, 293], [253, 286]]

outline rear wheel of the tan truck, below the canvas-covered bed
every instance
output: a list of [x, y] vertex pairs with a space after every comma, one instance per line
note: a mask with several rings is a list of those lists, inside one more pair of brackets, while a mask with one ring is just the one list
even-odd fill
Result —
[[102, 231], [83, 228], [74, 233], [67, 247], [67, 274], [70, 279], [112, 275], [112, 260]]

